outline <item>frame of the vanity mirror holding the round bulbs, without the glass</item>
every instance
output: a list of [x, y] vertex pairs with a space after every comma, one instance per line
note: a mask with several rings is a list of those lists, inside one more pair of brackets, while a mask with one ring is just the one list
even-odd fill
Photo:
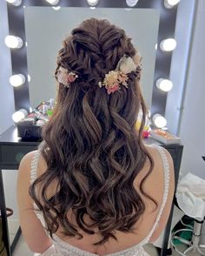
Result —
[[[60, 0], [61, 7], [90, 7], [86, 0]], [[26, 109], [30, 111], [30, 92], [28, 82], [28, 64], [27, 64], [27, 48], [26, 48], [26, 35], [24, 26], [24, 13], [23, 10], [26, 6], [43, 6], [50, 7], [50, 3], [45, 0], [23, 0], [20, 6], [14, 6], [7, 3], [8, 10], [8, 23], [10, 35], [21, 37], [23, 39], [23, 47], [20, 49], [10, 49], [12, 74], [23, 74], [26, 77], [25, 84], [14, 87], [14, 98], [16, 111], [19, 109]], [[129, 8], [125, 0], [99, 0], [96, 8]], [[155, 81], [160, 78], [169, 79], [169, 72], [171, 66], [172, 51], [161, 51], [160, 42], [169, 37], [175, 37], [175, 20], [177, 13], [177, 4], [167, 9], [164, 6], [163, 0], [139, 0], [135, 7], [136, 9], [156, 9], [160, 12], [160, 22], [157, 37], [157, 50], [155, 55], [155, 73], [152, 88], [152, 102], [151, 102], [151, 115], [160, 113], [164, 116], [167, 92], [161, 91], [156, 88]], [[169, 92], [168, 92], [169, 93]]]

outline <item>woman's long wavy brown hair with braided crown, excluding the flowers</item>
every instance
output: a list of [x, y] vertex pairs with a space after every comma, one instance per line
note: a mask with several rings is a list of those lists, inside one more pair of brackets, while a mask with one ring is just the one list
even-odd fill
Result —
[[[39, 147], [48, 169], [30, 186], [30, 196], [43, 212], [51, 237], [59, 226], [64, 235], [79, 239], [83, 238], [80, 230], [94, 234], [97, 227], [102, 235], [98, 245], [116, 239], [116, 230], [134, 232], [145, 204], [133, 182], [147, 158], [149, 172], [139, 189], [155, 202], [143, 191], [154, 163], [142, 144], [147, 108], [139, 85], [141, 68], [129, 73], [128, 88], [108, 94], [98, 86], [122, 56], [136, 53], [124, 30], [96, 18], [84, 21], [63, 41], [56, 73], [62, 66], [79, 78], [69, 88], [58, 84], [56, 108]], [[140, 109], [142, 125], [136, 131]], [[55, 180], [56, 191], [48, 198], [48, 187]], [[77, 226], [68, 218], [70, 211]]]

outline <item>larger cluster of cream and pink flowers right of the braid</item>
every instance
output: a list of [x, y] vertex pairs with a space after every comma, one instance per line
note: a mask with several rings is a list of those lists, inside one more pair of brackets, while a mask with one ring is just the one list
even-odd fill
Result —
[[132, 57], [127, 57], [124, 55], [116, 65], [116, 70], [109, 71], [109, 73], [105, 75], [103, 81], [99, 82], [98, 85], [100, 87], [105, 86], [105, 88], [108, 91], [108, 94], [115, 91], [119, 91], [120, 84], [128, 88], [128, 74], [131, 71], [136, 71], [136, 68], [139, 66], [139, 64], [141, 64], [141, 61], [142, 57], [140, 58], [139, 62], [137, 61], [137, 65]]

